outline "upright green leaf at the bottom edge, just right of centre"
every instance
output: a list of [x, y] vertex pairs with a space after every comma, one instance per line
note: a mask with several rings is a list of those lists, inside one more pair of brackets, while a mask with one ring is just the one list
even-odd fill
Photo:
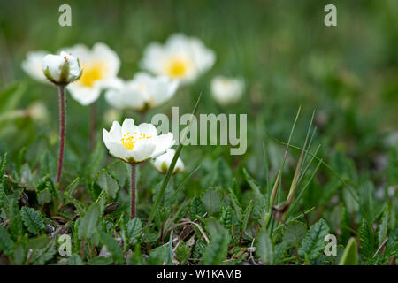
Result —
[[207, 249], [204, 250], [202, 264], [219, 265], [226, 259], [229, 244], [229, 234], [226, 231], [213, 235]]

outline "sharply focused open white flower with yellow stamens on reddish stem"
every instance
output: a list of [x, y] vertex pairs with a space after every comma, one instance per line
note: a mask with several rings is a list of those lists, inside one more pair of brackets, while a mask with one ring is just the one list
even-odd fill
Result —
[[161, 155], [175, 141], [172, 133], [157, 135], [152, 124], [135, 126], [133, 119], [125, 119], [122, 126], [114, 121], [109, 132], [103, 129], [103, 142], [112, 156], [139, 163]]

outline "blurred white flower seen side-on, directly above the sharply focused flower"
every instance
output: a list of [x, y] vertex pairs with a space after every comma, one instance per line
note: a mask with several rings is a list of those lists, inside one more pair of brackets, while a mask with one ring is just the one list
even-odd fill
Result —
[[105, 99], [118, 109], [147, 111], [170, 99], [178, 88], [178, 81], [165, 76], [153, 77], [137, 73], [133, 80], [114, 80]]

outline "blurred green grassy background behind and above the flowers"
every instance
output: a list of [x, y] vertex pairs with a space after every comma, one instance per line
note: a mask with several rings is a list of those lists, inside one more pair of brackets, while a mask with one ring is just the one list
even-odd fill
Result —
[[[60, 4], [71, 5], [72, 27], [58, 25]], [[337, 6], [337, 27], [324, 25], [326, 4]], [[227, 147], [195, 147], [188, 164], [197, 163], [207, 152], [205, 156], [224, 157], [232, 168], [244, 164], [256, 178], [264, 179], [262, 142], [267, 141], [266, 130], [286, 141], [295, 112], [302, 105], [295, 144], [302, 144], [316, 108], [314, 144], [322, 143], [321, 154], [342, 150], [355, 160], [357, 168], [369, 170], [377, 166], [388, 144], [396, 144], [391, 136], [398, 123], [397, 11], [395, 0], [1, 0], [0, 86], [18, 88], [14, 109], [23, 110], [41, 101], [49, 115], [40, 122], [29, 116], [0, 119], [0, 149], [8, 151], [11, 159], [24, 147], [38, 155], [50, 146], [54, 156], [57, 154], [56, 89], [31, 80], [21, 70], [27, 51], [56, 52], [76, 43], [92, 46], [105, 42], [119, 54], [119, 76], [130, 79], [139, 71], [138, 62], [149, 42], [165, 42], [170, 34], [181, 32], [200, 38], [214, 50], [216, 64], [152, 114], [170, 113], [171, 106], [180, 106], [180, 113], [189, 112], [203, 89], [199, 112], [248, 113], [249, 120], [246, 155], [231, 157]], [[222, 109], [212, 101], [210, 79], [218, 74], [245, 78], [247, 89], [241, 103]], [[10, 109], [4, 107], [5, 100], [0, 103], [0, 115], [4, 115]], [[70, 96], [67, 107], [66, 167], [70, 171], [66, 174], [73, 175], [80, 168], [78, 157], [88, 157], [89, 111]], [[102, 96], [98, 138], [102, 127], [111, 126], [103, 119], [110, 108]], [[270, 143], [268, 150], [271, 158], [275, 156], [272, 168], [277, 168], [283, 149]], [[31, 158], [36, 157], [32, 154]]]

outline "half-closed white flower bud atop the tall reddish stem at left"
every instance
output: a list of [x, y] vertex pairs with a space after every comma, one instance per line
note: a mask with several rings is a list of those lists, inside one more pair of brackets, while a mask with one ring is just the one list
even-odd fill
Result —
[[48, 54], [42, 59], [42, 71], [55, 84], [68, 84], [81, 76], [79, 59], [61, 51], [60, 55]]

